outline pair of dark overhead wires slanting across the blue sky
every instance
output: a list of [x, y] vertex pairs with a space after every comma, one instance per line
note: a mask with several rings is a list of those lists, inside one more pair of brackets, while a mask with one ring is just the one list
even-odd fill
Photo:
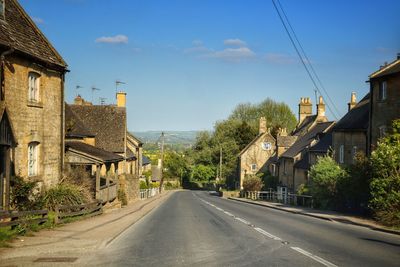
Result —
[[[279, 0], [278, 0], [278, 2], [279, 2]], [[285, 20], [283, 19], [282, 14], [281, 14], [281, 12], [279, 11], [279, 8], [278, 8], [278, 6], [277, 6], [276, 3], [275, 3], [275, 0], [272, 0], [272, 4], [273, 4], [273, 6], [274, 6], [276, 12], [278, 13], [279, 19], [280, 19], [280, 21], [282, 22], [282, 25], [283, 25], [283, 27], [285, 28], [285, 31], [286, 31], [286, 33], [287, 33], [289, 39], [290, 39], [290, 42], [292, 43], [294, 49], [296, 50], [296, 53], [297, 53], [298, 57], [300, 58], [300, 61], [301, 61], [302, 65], [303, 65], [304, 69], [306, 70], [306, 72], [307, 72], [307, 74], [308, 74], [308, 76], [309, 76], [311, 82], [313, 83], [313, 85], [314, 85], [315, 89], [318, 91], [318, 93], [319, 93], [320, 95], [323, 95], [322, 92], [321, 92], [321, 90], [319, 89], [319, 87], [318, 87], [318, 85], [317, 85], [317, 82], [315, 81], [315, 79], [314, 79], [314, 77], [313, 77], [313, 75], [312, 75], [312, 73], [311, 73], [311, 71], [310, 71], [310, 69], [312, 68], [312, 65], [310, 64], [310, 60], [308, 59], [307, 55], [304, 53], [304, 49], [302, 49], [303, 54], [304, 54], [304, 58], [305, 58], [305, 59], [307, 60], [307, 62], [310, 64], [310, 66], [311, 66], [310, 69], [307, 67], [307, 64], [306, 64], [306, 62], [305, 62], [305, 60], [304, 60], [302, 54], [300, 53], [300, 50], [299, 50], [299, 48], [297, 47], [297, 45], [296, 45], [296, 43], [295, 43], [295, 41], [294, 41], [294, 39], [293, 39], [293, 37], [292, 37], [292, 35], [291, 35], [289, 29], [288, 29], [288, 26], [286, 25]], [[280, 3], [279, 3], [279, 4], [280, 4]], [[283, 11], [282, 5], [280, 5], [280, 7], [281, 7], [281, 9], [282, 9], [282, 11]], [[284, 13], [284, 11], [283, 11], [282, 13]], [[287, 19], [287, 16], [286, 16], [286, 15], [285, 15], [285, 18]], [[288, 20], [287, 20], [287, 21], [288, 21]], [[290, 23], [288, 23], [288, 24], [290, 25]], [[293, 28], [292, 28], [292, 27], [291, 27], [291, 29], [292, 29], [292, 31], [293, 31]], [[294, 31], [293, 31], [293, 32], [294, 32]], [[297, 42], [300, 44], [300, 42], [298, 41], [297, 37], [296, 37], [296, 40], [297, 40]], [[300, 46], [301, 46], [301, 45], [300, 45]], [[301, 46], [301, 47], [302, 47], [302, 46]], [[314, 75], [315, 75], [315, 71], [314, 71]], [[316, 79], [319, 80], [319, 78], [318, 78], [317, 75], [316, 75]], [[332, 101], [331, 98], [329, 97], [329, 94], [327, 93], [327, 91], [324, 90], [324, 92], [325, 92], [325, 94], [327, 95], [327, 97], [328, 97], [328, 99], [330, 100], [330, 102], [333, 103], [333, 101]], [[335, 105], [333, 104], [332, 106], [335, 106]], [[335, 117], [335, 119], [338, 119], [338, 117], [336, 116], [335, 112], [334, 112], [334, 111], [332, 110], [332, 108], [330, 107], [330, 104], [327, 103], [327, 107], [328, 107], [329, 111], [331, 112], [331, 114]]]

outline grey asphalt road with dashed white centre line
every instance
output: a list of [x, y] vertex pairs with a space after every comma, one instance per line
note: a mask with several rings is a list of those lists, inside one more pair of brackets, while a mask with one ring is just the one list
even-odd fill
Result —
[[181, 191], [87, 265], [400, 266], [400, 237]]

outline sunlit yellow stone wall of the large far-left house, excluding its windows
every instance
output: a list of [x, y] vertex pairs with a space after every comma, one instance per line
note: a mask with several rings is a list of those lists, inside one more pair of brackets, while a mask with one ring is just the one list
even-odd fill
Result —
[[[61, 74], [13, 55], [6, 58], [5, 105], [18, 142], [12, 161], [16, 175], [49, 187], [61, 177], [63, 81]], [[39, 102], [28, 101], [28, 75], [40, 75]], [[38, 175], [28, 177], [28, 144], [38, 142]]]

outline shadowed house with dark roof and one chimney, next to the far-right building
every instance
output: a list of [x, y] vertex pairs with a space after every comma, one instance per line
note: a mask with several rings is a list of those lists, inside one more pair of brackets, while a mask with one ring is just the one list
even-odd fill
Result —
[[332, 149], [337, 163], [350, 165], [356, 153], [368, 151], [370, 94], [357, 103], [351, 94], [348, 112], [336, 123], [332, 131]]

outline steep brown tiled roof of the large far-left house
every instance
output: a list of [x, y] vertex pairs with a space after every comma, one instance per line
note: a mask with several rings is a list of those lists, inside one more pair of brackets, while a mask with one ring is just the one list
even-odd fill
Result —
[[63, 69], [67, 66], [16, 0], [5, 1], [5, 16], [0, 18], [0, 45]]

